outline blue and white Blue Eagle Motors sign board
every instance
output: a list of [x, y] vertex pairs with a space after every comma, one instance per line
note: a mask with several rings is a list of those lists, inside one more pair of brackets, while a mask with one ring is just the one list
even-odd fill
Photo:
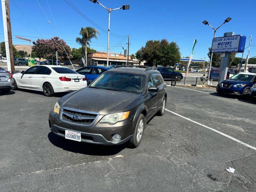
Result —
[[244, 52], [246, 36], [233, 35], [226, 37], [216, 37], [212, 39], [212, 52]]

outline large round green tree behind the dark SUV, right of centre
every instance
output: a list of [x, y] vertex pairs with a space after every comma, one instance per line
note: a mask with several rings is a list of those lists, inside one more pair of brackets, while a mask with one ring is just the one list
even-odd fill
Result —
[[169, 66], [180, 61], [180, 48], [175, 42], [169, 43], [166, 39], [149, 40], [145, 47], [136, 52], [136, 58], [145, 60], [149, 66]]

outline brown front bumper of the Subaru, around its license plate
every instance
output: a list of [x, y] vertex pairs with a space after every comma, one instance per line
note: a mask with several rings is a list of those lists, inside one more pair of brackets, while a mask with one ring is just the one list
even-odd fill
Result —
[[[61, 114], [61, 113], [60, 113]], [[103, 115], [100, 115], [90, 126], [69, 124], [60, 120], [60, 116], [53, 111], [49, 114], [50, 130], [56, 135], [65, 138], [65, 130], [81, 133], [81, 142], [97, 145], [121, 145], [132, 138], [134, 131], [133, 120], [126, 119], [114, 125], [99, 123]], [[113, 134], [120, 134], [121, 140], [114, 141]]]

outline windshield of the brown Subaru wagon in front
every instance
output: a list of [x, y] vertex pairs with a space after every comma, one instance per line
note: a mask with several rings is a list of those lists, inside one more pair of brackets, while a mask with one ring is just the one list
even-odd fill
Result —
[[89, 87], [141, 93], [145, 87], [145, 75], [107, 71]]

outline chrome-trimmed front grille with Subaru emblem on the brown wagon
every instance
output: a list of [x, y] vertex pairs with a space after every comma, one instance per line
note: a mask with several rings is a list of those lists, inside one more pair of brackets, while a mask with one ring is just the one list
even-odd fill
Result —
[[[100, 114], [80, 109], [66, 108], [61, 109], [61, 120], [70, 124], [91, 125]], [[74, 118], [76, 117], [76, 118]]]

